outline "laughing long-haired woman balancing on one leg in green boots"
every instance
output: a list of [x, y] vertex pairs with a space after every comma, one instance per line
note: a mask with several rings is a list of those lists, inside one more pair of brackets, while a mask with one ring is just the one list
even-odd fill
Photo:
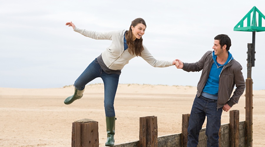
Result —
[[147, 48], [143, 45], [142, 36], [145, 34], [146, 24], [141, 18], [132, 21], [129, 31], [115, 30], [108, 32], [95, 32], [85, 29], [78, 29], [73, 23], [67, 22], [67, 26], [72, 26], [74, 31], [93, 38], [112, 40], [112, 44], [101, 53], [92, 63], [87, 66], [85, 71], [74, 82], [74, 95], [64, 100], [65, 104], [83, 96], [85, 85], [93, 79], [100, 77], [104, 83], [104, 107], [106, 114], [107, 142], [106, 146], [114, 146], [115, 134], [115, 111], [114, 98], [118, 87], [121, 69], [129, 63], [129, 60], [140, 56], [154, 67], [168, 67], [175, 64], [174, 60], [156, 60]]

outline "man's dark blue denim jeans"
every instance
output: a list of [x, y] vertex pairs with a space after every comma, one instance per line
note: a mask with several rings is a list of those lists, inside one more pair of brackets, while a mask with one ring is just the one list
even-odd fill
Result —
[[188, 147], [198, 145], [199, 133], [207, 116], [207, 146], [218, 147], [219, 129], [221, 126], [222, 108], [217, 109], [217, 100], [203, 96], [195, 97], [188, 126]]

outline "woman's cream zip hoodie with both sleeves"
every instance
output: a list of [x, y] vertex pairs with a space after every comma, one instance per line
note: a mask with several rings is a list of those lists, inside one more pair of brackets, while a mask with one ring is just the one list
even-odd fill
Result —
[[[123, 39], [126, 30], [96, 32], [75, 28], [74, 31], [93, 39], [112, 40], [111, 45], [101, 54], [103, 62], [109, 69], [121, 70], [129, 63], [130, 59], [136, 57], [135, 54], [131, 55], [128, 50], [124, 51]], [[156, 60], [144, 45], [143, 47], [144, 50], [142, 51], [141, 57], [150, 65], [154, 67], [168, 67], [173, 65], [172, 61]]]

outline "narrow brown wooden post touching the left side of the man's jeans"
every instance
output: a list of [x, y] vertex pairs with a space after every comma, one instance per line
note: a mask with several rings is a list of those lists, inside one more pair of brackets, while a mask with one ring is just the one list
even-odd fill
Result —
[[181, 146], [185, 147], [188, 143], [188, 126], [189, 126], [190, 114], [182, 114], [182, 126], [181, 126]]

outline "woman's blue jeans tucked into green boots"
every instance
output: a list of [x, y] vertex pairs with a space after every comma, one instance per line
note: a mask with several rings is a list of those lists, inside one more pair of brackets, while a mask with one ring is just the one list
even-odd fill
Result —
[[97, 59], [95, 59], [87, 66], [85, 71], [77, 78], [77, 80], [74, 82], [74, 87], [78, 90], [83, 90], [87, 83], [98, 77], [102, 78], [104, 83], [105, 115], [107, 117], [113, 117], [115, 116], [114, 98], [119, 83], [119, 77], [120, 77], [119, 74], [105, 73], [98, 64]]

